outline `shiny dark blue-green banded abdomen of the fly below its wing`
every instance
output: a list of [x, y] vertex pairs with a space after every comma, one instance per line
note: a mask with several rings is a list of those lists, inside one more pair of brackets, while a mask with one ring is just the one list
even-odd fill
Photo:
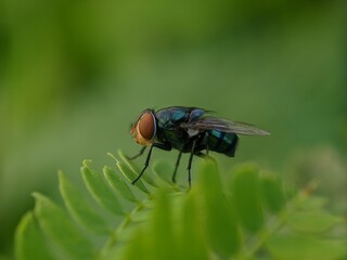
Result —
[[235, 133], [226, 133], [218, 130], [207, 131], [208, 150], [234, 157], [239, 138]]

